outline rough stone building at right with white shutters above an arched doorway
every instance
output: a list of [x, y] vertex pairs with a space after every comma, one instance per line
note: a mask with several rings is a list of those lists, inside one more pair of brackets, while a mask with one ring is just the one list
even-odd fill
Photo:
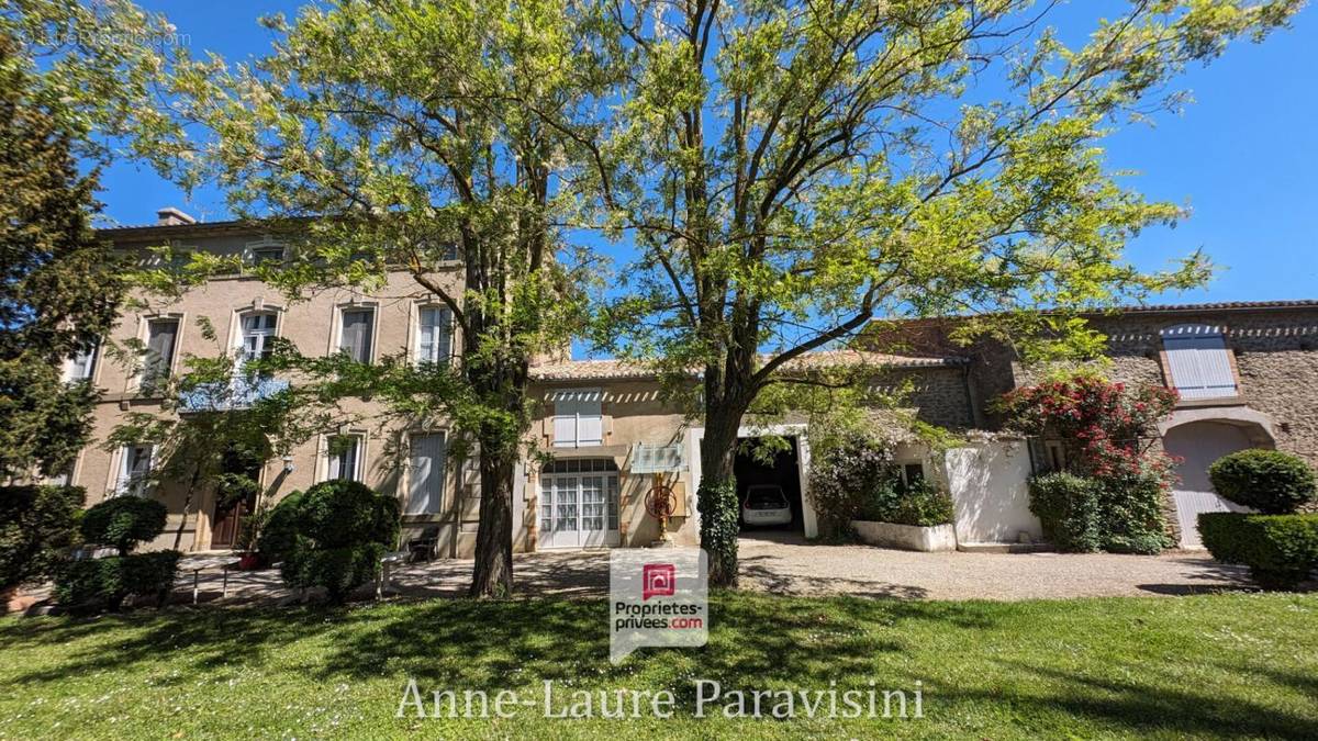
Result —
[[[1318, 301], [1141, 306], [1089, 320], [1107, 338], [1108, 377], [1180, 393], [1176, 411], [1159, 426], [1157, 443], [1184, 459], [1181, 483], [1166, 502], [1184, 547], [1199, 547], [1198, 513], [1234, 506], [1209, 483], [1207, 468], [1218, 458], [1248, 447], [1277, 448], [1318, 468]], [[948, 339], [954, 326], [954, 319], [878, 323], [866, 344], [962, 355], [978, 400], [1037, 378], [1039, 370], [1023, 365], [1003, 343], [956, 345]], [[988, 411], [981, 419], [988, 429], [999, 423]]]

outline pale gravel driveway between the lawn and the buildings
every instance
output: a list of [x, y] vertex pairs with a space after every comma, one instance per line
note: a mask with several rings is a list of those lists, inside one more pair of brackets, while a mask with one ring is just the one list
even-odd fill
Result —
[[[609, 589], [606, 551], [523, 554], [514, 568], [519, 596], [604, 596]], [[471, 574], [471, 560], [401, 566], [394, 570], [387, 599], [461, 596]], [[1219, 564], [1205, 552], [921, 554], [776, 537], [742, 537], [741, 580], [742, 588], [784, 595], [927, 600], [1190, 595], [1251, 588], [1244, 568]], [[175, 599], [190, 601], [191, 587], [191, 574], [181, 571]], [[220, 572], [203, 571], [203, 603], [278, 604], [297, 599], [274, 570], [231, 572], [228, 597], [221, 600], [220, 591]], [[370, 599], [372, 592], [373, 587], [362, 589], [361, 597]]]

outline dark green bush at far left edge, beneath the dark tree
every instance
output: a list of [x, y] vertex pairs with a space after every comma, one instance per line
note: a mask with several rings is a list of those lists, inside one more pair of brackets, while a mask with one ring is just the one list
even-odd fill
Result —
[[78, 545], [80, 487], [0, 487], [0, 589], [51, 579]]

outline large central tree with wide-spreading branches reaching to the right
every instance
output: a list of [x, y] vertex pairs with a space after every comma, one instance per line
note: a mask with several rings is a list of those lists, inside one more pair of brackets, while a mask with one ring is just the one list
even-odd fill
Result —
[[1014, 338], [1052, 322], [1093, 348], [1070, 311], [1205, 278], [1197, 254], [1123, 260], [1180, 210], [1119, 181], [1102, 138], [1176, 108], [1186, 65], [1302, 3], [1132, 0], [1078, 45], [1045, 25], [1058, 5], [608, 4], [635, 67], [609, 150], [630, 187], [604, 200], [641, 253], [609, 330], [675, 376], [702, 369], [712, 583], [737, 579], [737, 430], [784, 364], [880, 314], [987, 312], [967, 327]]

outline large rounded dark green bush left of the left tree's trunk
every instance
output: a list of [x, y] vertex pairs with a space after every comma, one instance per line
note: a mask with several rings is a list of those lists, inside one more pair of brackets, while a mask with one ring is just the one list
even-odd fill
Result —
[[286, 584], [324, 587], [339, 604], [378, 572], [398, 541], [398, 519], [395, 497], [358, 481], [324, 481], [275, 505], [258, 548], [281, 562]]

